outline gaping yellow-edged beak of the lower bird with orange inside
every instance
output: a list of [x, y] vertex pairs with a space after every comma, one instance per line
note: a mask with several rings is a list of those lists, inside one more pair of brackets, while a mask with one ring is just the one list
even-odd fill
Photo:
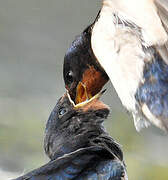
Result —
[[104, 94], [105, 91], [106, 89], [97, 93], [95, 96], [89, 98], [85, 85], [82, 82], [80, 82], [77, 87], [77, 96], [76, 96], [76, 98], [80, 100], [78, 101], [79, 103], [75, 104], [75, 102], [71, 99], [68, 92], [67, 92], [67, 95], [68, 95], [69, 101], [74, 106], [74, 108], [79, 109], [87, 105], [88, 103], [92, 102], [93, 100], [98, 100]]

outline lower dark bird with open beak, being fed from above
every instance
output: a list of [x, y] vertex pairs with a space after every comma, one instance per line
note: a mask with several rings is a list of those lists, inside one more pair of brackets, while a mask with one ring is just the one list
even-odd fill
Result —
[[109, 108], [99, 95], [74, 105], [66, 93], [53, 109], [44, 148], [51, 159], [16, 180], [126, 180], [123, 153], [103, 126]]

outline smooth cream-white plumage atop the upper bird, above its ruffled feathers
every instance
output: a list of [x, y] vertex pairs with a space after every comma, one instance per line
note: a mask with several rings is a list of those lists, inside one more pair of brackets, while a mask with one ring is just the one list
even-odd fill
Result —
[[103, 8], [139, 26], [147, 46], [161, 45], [168, 40], [154, 0], [103, 0]]

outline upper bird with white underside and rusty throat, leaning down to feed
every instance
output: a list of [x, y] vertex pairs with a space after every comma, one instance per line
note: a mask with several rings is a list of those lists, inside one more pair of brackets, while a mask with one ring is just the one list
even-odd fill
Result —
[[76, 104], [98, 93], [108, 75], [138, 131], [151, 123], [168, 131], [167, 18], [166, 0], [103, 0], [64, 58], [65, 85]]

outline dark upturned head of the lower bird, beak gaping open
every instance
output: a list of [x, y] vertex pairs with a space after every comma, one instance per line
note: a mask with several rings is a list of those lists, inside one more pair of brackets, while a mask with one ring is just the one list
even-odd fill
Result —
[[58, 100], [45, 131], [44, 149], [50, 159], [87, 147], [93, 137], [104, 132], [102, 122], [109, 108], [99, 100], [102, 93], [77, 105], [68, 92]]

